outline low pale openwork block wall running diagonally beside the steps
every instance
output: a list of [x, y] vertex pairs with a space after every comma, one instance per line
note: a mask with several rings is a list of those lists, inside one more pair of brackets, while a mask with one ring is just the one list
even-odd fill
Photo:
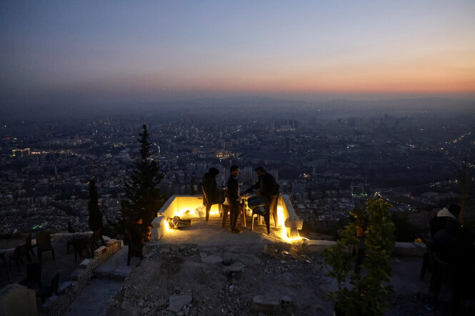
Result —
[[68, 310], [69, 305], [79, 295], [81, 290], [86, 287], [91, 279], [91, 275], [101, 263], [109, 259], [124, 247], [122, 240], [110, 239], [106, 242], [106, 246], [101, 246], [94, 250], [94, 258], [85, 259], [79, 265], [79, 268], [71, 273], [74, 281], [63, 282], [59, 285], [59, 296], [51, 296], [41, 306], [41, 312], [48, 315], [63, 315]]

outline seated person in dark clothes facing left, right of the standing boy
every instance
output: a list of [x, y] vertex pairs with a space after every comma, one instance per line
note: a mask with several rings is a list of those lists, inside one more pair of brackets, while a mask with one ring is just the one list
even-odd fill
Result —
[[[267, 233], [270, 234], [269, 208], [272, 195], [279, 194], [279, 185], [276, 183], [274, 175], [267, 173], [263, 167], [259, 166], [255, 171], [259, 180], [248, 188], [245, 193], [251, 193], [253, 190], [256, 190], [256, 195], [247, 199], [247, 205], [252, 209], [253, 213], [258, 213], [259, 215], [264, 216]], [[264, 207], [264, 210], [260, 210], [261, 207]]]

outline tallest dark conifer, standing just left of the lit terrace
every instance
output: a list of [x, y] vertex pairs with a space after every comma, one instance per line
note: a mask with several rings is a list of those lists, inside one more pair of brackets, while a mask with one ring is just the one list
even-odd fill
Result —
[[132, 172], [130, 181], [125, 183], [126, 198], [122, 200], [122, 215], [126, 223], [140, 217], [144, 226], [149, 226], [164, 201], [157, 188], [163, 175], [151, 159], [151, 143], [145, 124], [142, 129], [139, 134], [139, 157], [134, 161], [136, 170]]

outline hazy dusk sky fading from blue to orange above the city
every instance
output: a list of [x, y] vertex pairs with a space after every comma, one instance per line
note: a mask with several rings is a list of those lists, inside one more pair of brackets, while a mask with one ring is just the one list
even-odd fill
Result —
[[0, 1], [0, 102], [475, 95], [475, 1]]

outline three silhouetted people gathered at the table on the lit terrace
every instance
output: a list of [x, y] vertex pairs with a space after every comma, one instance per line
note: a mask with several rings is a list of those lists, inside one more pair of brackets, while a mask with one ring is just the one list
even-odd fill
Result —
[[[241, 202], [241, 187], [239, 184], [239, 167], [237, 165], [231, 165], [229, 168], [231, 175], [229, 175], [227, 189], [218, 189], [216, 184], [216, 178], [219, 176], [219, 170], [216, 168], [209, 168], [209, 172], [203, 177], [203, 186], [206, 191], [206, 199], [209, 205], [224, 203], [226, 198], [230, 208], [230, 222], [231, 233], [241, 233], [241, 229], [237, 227], [239, 213], [243, 204]], [[255, 169], [259, 180], [250, 188], [244, 191], [244, 193], [252, 193], [256, 190], [256, 194], [247, 199], [247, 205], [252, 209], [253, 213], [264, 215], [266, 221], [269, 221], [269, 205], [272, 195], [279, 194], [279, 185], [276, 183], [276, 179], [270, 173], [259, 166]], [[206, 212], [206, 220], [209, 220], [209, 213]], [[269, 234], [269, 225], [267, 225]]]

